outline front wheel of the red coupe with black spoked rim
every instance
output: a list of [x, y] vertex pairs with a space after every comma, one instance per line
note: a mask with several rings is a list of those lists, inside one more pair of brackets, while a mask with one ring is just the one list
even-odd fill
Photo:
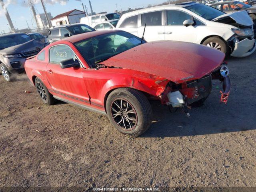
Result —
[[110, 122], [122, 134], [138, 137], [152, 121], [152, 108], [148, 99], [138, 90], [119, 88], [110, 93], [106, 101]]

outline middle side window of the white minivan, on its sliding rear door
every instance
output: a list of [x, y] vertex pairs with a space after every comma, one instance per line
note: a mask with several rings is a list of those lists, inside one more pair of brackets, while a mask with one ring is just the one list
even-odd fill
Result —
[[141, 25], [160, 26], [162, 25], [162, 11], [155, 11], [141, 14]]

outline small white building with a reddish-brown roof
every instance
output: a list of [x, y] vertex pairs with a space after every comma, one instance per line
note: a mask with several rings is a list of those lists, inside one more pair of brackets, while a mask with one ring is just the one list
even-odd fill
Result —
[[85, 12], [74, 9], [66, 13], [57, 15], [51, 19], [52, 26], [60, 26], [64, 24], [80, 23], [80, 19], [86, 16]]

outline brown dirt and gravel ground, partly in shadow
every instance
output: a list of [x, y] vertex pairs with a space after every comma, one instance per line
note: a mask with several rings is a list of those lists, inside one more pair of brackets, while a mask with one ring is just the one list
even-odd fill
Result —
[[152, 125], [139, 138], [107, 116], [44, 105], [26, 75], [0, 76], [0, 187], [256, 186], [256, 53], [227, 60], [227, 105], [218, 82], [191, 118], [152, 103]]

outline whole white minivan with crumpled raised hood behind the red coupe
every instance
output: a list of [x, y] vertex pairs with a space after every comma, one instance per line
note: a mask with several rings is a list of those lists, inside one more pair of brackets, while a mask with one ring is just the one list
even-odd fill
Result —
[[[146, 28], [145, 28], [146, 24]], [[144, 39], [175, 40], [203, 44], [234, 57], [255, 49], [253, 22], [245, 11], [226, 14], [195, 2], [157, 6], [126, 13], [117, 29]]]

